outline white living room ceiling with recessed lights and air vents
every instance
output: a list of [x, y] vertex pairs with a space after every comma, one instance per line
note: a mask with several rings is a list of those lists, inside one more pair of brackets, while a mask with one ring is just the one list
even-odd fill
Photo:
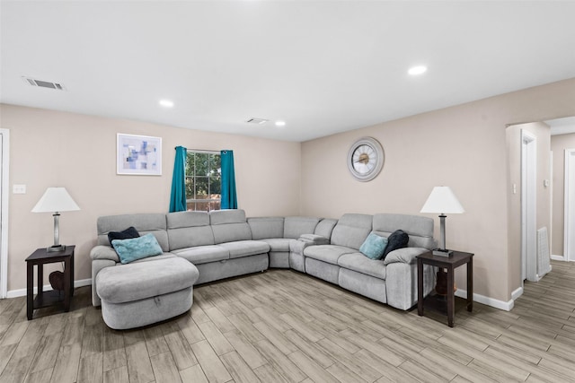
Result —
[[3, 0], [0, 13], [1, 102], [280, 140], [575, 77], [571, 1]]

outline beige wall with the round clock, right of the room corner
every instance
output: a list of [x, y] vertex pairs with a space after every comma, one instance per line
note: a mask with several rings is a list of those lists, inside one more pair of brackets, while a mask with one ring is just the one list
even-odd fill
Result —
[[[452, 187], [465, 213], [447, 217], [447, 248], [475, 254], [474, 292], [508, 301], [520, 286], [509, 251], [506, 126], [575, 114], [575, 79], [440, 109], [302, 144], [302, 211], [414, 213], [432, 187]], [[349, 175], [346, 155], [359, 137], [375, 137], [385, 165], [374, 180]], [[429, 215], [433, 216], [433, 215]], [[438, 218], [436, 217], [436, 235]], [[458, 286], [466, 288], [464, 270]]]

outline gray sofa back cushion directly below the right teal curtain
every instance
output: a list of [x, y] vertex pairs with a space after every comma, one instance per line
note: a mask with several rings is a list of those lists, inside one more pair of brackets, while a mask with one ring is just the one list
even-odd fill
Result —
[[245, 219], [245, 212], [241, 209], [209, 212], [209, 222], [212, 226], [216, 244], [252, 239], [250, 225]]

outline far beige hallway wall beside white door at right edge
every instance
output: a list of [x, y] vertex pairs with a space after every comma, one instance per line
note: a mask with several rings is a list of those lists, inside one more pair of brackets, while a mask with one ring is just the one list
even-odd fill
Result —
[[553, 232], [552, 254], [563, 257], [565, 230], [565, 149], [575, 149], [575, 134], [553, 135]]

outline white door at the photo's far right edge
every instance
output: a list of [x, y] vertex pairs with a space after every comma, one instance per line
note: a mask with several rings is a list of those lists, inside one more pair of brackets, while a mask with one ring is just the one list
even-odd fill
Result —
[[575, 149], [565, 150], [565, 234], [563, 257], [575, 261]]

